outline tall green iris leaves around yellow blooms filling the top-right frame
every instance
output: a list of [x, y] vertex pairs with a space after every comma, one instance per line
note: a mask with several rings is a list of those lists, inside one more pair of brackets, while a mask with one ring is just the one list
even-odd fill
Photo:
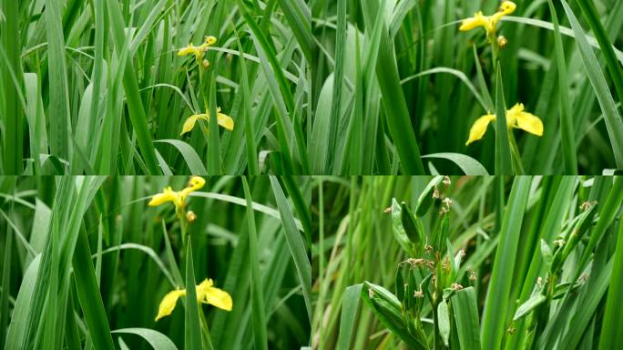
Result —
[[[601, 174], [623, 166], [618, 2], [338, 0], [312, 1], [311, 11], [316, 173]], [[516, 103], [542, 123], [507, 115], [506, 124]], [[482, 116], [496, 116], [495, 132], [471, 143]], [[321, 142], [332, 135], [343, 137]]]

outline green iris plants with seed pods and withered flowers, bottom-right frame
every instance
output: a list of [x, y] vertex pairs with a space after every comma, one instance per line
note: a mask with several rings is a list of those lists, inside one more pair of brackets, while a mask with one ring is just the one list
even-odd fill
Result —
[[618, 344], [619, 177], [364, 177], [319, 191], [313, 345]]

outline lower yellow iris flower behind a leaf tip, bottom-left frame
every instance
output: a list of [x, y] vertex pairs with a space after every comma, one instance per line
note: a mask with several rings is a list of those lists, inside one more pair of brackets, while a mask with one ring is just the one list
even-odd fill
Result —
[[[213, 287], [214, 283], [212, 279], [205, 279], [202, 283], [197, 284], [195, 290], [197, 292], [197, 303], [211, 304], [220, 309], [231, 311], [233, 302], [231, 301], [230, 293], [223, 291], [222, 289]], [[176, 289], [167, 293], [162, 298], [160, 305], [158, 306], [158, 315], [156, 321], [162, 317], [168, 316], [175, 309], [175, 305], [178, 303], [180, 296], [186, 296], [185, 289]]]

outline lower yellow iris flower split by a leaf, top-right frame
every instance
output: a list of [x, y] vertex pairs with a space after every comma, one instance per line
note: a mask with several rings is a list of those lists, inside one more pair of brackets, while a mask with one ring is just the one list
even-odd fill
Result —
[[[486, 127], [494, 120], [493, 114], [477, 118], [472, 129], [469, 130], [469, 139], [465, 142], [465, 146], [482, 139], [485, 136]], [[536, 136], [543, 136], [543, 122], [534, 114], [525, 112], [523, 103], [517, 103], [513, 108], [506, 110], [506, 124], [508, 129], [523, 129]]]

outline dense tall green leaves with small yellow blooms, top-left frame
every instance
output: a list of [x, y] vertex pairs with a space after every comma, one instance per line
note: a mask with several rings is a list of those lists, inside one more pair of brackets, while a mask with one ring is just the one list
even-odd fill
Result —
[[[309, 172], [311, 27], [302, 0], [0, 9], [0, 173]], [[217, 115], [223, 129], [209, 122]]]

